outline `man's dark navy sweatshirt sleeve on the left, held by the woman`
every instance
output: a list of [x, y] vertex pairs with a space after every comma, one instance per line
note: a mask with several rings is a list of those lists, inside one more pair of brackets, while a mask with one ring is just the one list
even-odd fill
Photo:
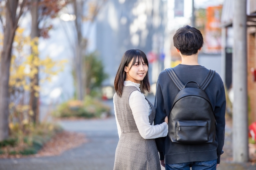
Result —
[[[156, 117], [155, 117], [155, 125], [159, 125], [164, 122], [164, 118], [166, 117], [166, 110], [164, 107], [164, 98], [161, 90], [161, 86], [159, 82], [156, 84], [156, 97], [155, 97], [155, 107], [156, 107]], [[156, 147], [159, 152], [160, 160], [164, 160], [164, 143], [166, 137], [160, 137], [156, 139]]]

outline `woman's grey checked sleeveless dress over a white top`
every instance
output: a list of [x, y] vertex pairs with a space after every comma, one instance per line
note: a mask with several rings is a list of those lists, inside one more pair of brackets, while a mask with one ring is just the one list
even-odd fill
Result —
[[[161, 170], [155, 139], [141, 137], [129, 106], [129, 96], [135, 90], [138, 90], [135, 86], [124, 86], [122, 97], [115, 97], [116, 115], [122, 133], [116, 147], [114, 170]], [[152, 125], [156, 109], [149, 104], [152, 107], [149, 115]]]

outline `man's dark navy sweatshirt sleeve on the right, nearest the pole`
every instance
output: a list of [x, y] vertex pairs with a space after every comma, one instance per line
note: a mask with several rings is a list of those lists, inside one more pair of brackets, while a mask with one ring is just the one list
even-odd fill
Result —
[[214, 109], [216, 115], [216, 136], [218, 139], [218, 148], [217, 148], [217, 164], [220, 163], [220, 155], [223, 153], [223, 145], [225, 139], [225, 113], [226, 113], [226, 95], [225, 88], [222, 85], [220, 88], [220, 93], [216, 98], [216, 106]]

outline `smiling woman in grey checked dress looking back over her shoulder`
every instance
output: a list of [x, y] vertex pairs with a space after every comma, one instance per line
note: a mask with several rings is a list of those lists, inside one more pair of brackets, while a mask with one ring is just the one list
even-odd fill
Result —
[[144, 96], [150, 91], [146, 55], [131, 49], [124, 53], [115, 78], [114, 111], [119, 142], [114, 170], [160, 170], [155, 138], [168, 133], [168, 119], [152, 125], [156, 109]]

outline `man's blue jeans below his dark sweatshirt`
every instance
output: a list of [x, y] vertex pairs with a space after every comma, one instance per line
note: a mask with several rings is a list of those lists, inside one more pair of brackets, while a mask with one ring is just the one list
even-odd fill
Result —
[[166, 170], [216, 170], [217, 159], [208, 161], [186, 162], [180, 164], [165, 164]]

